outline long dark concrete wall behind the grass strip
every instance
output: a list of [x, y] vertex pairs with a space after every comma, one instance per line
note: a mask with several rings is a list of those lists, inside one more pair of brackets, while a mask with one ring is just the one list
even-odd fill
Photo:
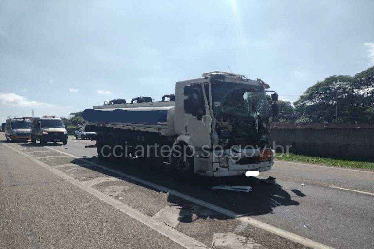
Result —
[[371, 124], [272, 123], [270, 130], [276, 145], [292, 145], [291, 153], [374, 158], [374, 125]]

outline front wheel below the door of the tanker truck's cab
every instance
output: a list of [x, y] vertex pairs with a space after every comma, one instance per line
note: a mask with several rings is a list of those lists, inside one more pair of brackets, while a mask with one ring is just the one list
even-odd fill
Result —
[[[179, 153], [175, 149], [173, 149], [171, 153], [171, 170], [174, 177], [187, 180], [194, 176], [194, 162], [193, 156], [191, 156], [192, 151], [187, 144], [179, 145], [181, 146], [181, 155], [179, 156]], [[186, 152], [186, 154], [184, 152]]]

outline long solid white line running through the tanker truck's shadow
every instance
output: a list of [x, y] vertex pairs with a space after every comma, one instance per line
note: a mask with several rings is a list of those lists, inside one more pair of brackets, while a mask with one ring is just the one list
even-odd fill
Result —
[[162, 192], [165, 192], [165, 193], [168, 192], [169, 194], [172, 194], [174, 196], [177, 196], [177, 197], [180, 197], [182, 199], [188, 200], [190, 202], [196, 203], [197, 205], [203, 206], [205, 208], [212, 209], [212, 210], [214, 210], [214, 211], [216, 211], [216, 212], [218, 212], [220, 214], [224, 214], [224, 215], [226, 215], [228, 217], [236, 218], [239, 221], [246, 222], [246, 223], [248, 223], [250, 225], [253, 225], [255, 227], [261, 228], [261, 229], [266, 230], [266, 231], [268, 231], [270, 233], [277, 234], [277, 235], [279, 235], [279, 236], [281, 236], [283, 238], [286, 238], [286, 239], [292, 240], [294, 242], [300, 243], [300, 244], [302, 244], [304, 246], [309, 246], [310, 248], [315, 248], [315, 249], [332, 249], [332, 247], [330, 247], [330, 246], [327, 246], [327, 245], [324, 245], [322, 243], [313, 241], [311, 239], [304, 238], [302, 236], [299, 236], [297, 234], [285, 231], [285, 230], [283, 230], [281, 228], [278, 228], [278, 227], [274, 227], [274, 226], [266, 224], [264, 222], [255, 220], [252, 217], [251, 218], [243, 217], [242, 214], [237, 214], [237, 213], [235, 213], [233, 211], [230, 211], [230, 210], [225, 209], [225, 208], [221, 208], [221, 207], [216, 206], [216, 205], [214, 205], [212, 203], [205, 202], [203, 200], [197, 199], [197, 198], [192, 197], [192, 196], [188, 196], [187, 194], [183, 194], [183, 193], [177, 192], [175, 190], [169, 189], [167, 187], [163, 187], [163, 186], [160, 186], [158, 184], [151, 183], [149, 181], [143, 180], [143, 179], [138, 178], [138, 177], [134, 177], [132, 175], [129, 175], [129, 174], [117, 171], [115, 169], [107, 168], [107, 167], [102, 166], [100, 164], [96, 164], [94, 162], [90, 162], [90, 161], [88, 161], [86, 159], [70, 155], [70, 154], [68, 154], [66, 152], [62, 152], [60, 150], [56, 150], [56, 149], [53, 149], [51, 147], [46, 147], [46, 148], [48, 148], [50, 150], [55, 150], [57, 152], [60, 152], [60, 153], [62, 153], [64, 155], [70, 156], [72, 158], [79, 159], [82, 162], [85, 162], [87, 164], [92, 164], [93, 166], [105, 169], [106, 171], [112, 172], [112, 173], [117, 174], [117, 175], [121, 175], [121, 176], [129, 178], [129, 179], [131, 179], [133, 181], [137, 181], [138, 183], [142, 183], [144, 185], [153, 187], [154, 189], [160, 190]]

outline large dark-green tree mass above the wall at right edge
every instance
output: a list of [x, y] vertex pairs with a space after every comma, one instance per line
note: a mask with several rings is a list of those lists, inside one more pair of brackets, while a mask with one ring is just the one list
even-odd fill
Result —
[[299, 116], [313, 122], [374, 122], [374, 67], [349, 75], [333, 75], [309, 87], [294, 102]]

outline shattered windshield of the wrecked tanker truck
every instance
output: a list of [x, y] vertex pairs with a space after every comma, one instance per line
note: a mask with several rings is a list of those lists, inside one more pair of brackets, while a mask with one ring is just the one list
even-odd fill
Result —
[[270, 117], [263, 87], [225, 82], [212, 85], [212, 92], [214, 112], [244, 118]]

